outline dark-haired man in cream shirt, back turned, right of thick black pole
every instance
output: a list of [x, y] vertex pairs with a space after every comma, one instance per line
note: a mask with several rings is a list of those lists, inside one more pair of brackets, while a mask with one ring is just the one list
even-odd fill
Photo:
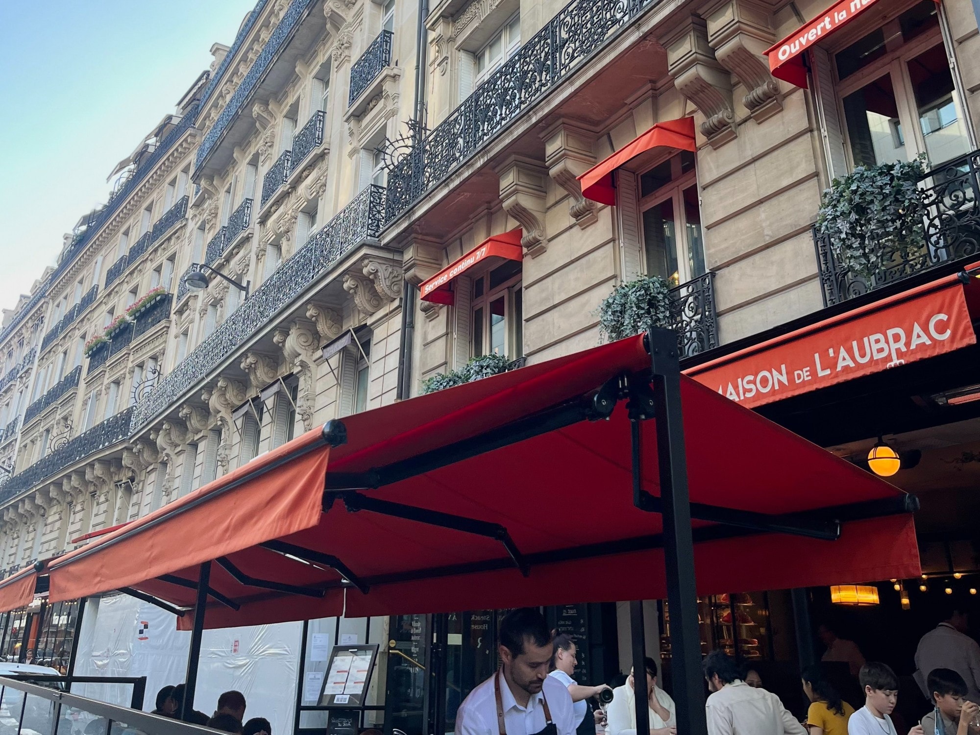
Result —
[[711, 690], [705, 704], [709, 735], [807, 735], [776, 695], [742, 681], [723, 652], [712, 651], [704, 666]]

